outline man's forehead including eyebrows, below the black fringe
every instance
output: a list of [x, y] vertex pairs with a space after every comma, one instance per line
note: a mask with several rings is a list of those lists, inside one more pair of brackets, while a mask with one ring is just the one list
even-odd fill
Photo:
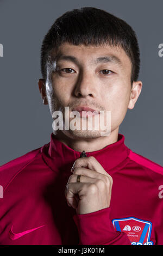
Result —
[[97, 64], [98, 62], [111, 62], [118, 64], [121, 68], [130, 68], [131, 66], [130, 58], [121, 46], [115, 47], [108, 44], [85, 46], [66, 42], [60, 45], [57, 51], [53, 51], [52, 56], [55, 60], [77, 60], [78, 63]]

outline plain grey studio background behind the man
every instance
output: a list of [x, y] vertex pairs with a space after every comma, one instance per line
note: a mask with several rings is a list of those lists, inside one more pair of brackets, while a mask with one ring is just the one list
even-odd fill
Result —
[[135, 108], [128, 109], [120, 133], [131, 150], [163, 166], [163, 57], [158, 56], [158, 45], [163, 43], [163, 2], [156, 0], [0, 1], [1, 165], [49, 142], [53, 120], [37, 85], [41, 42], [57, 17], [86, 6], [120, 17], [137, 34], [143, 88]]

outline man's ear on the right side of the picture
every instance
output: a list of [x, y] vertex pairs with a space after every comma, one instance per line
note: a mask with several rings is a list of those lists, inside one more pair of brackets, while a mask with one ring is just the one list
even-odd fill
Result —
[[141, 93], [142, 89], [142, 82], [141, 81], [136, 81], [133, 82], [133, 87], [131, 88], [131, 94], [130, 94], [130, 101], [128, 104], [129, 109], [133, 109], [135, 106], [135, 103]]

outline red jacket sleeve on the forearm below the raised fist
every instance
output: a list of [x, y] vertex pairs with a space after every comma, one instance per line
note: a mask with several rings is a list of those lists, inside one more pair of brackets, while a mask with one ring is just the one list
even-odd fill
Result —
[[79, 245], [131, 245], [124, 232], [116, 231], [110, 220], [110, 208], [89, 214], [75, 214]]

